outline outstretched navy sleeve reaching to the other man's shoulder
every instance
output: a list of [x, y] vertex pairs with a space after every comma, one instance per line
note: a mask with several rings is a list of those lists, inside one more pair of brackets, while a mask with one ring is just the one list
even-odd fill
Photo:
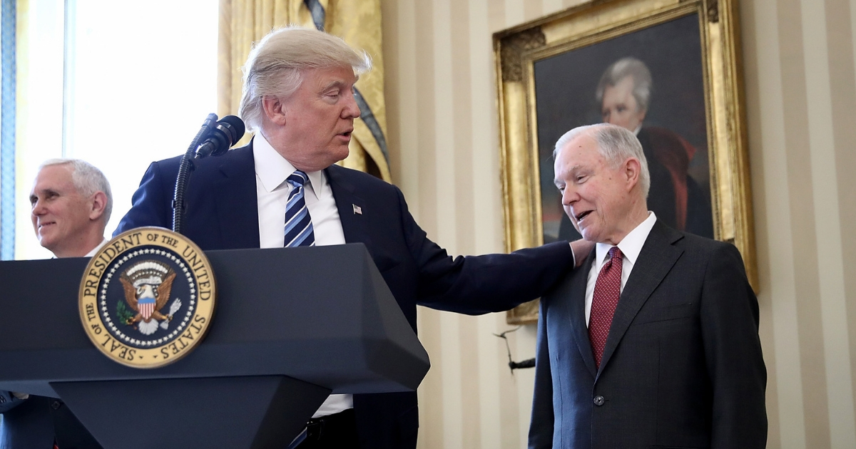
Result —
[[478, 315], [542, 296], [574, 266], [568, 242], [510, 254], [450, 257], [413, 220], [397, 188], [402, 228], [419, 269], [419, 304]]

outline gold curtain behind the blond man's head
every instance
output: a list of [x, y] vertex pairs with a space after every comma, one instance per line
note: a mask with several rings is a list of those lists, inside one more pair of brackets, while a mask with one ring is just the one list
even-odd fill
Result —
[[[361, 117], [354, 121], [350, 155], [340, 163], [390, 181], [380, 0], [220, 0], [217, 114], [237, 113], [241, 66], [253, 42], [276, 27], [292, 24], [324, 29], [372, 56], [372, 71], [355, 86]], [[243, 142], [248, 140], [246, 136]]]

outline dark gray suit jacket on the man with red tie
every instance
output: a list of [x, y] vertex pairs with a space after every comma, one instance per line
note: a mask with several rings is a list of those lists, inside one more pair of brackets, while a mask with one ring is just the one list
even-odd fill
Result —
[[586, 327], [594, 252], [541, 301], [531, 448], [763, 448], [758, 300], [733, 245], [657, 221], [600, 369]]

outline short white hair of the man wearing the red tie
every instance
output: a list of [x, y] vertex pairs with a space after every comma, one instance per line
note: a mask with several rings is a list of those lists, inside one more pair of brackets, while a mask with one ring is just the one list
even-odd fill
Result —
[[609, 123], [597, 123], [575, 127], [564, 133], [556, 140], [556, 148], [553, 150], [553, 159], [559, 156], [559, 152], [572, 140], [589, 135], [597, 142], [597, 152], [606, 160], [611, 168], [618, 168], [622, 162], [630, 157], [639, 159], [639, 186], [642, 188], [643, 198], [648, 198], [648, 190], [651, 189], [651, 174], [648, 173], [648, 160], [645, 159], [645, 151], [642, 144], [631, 131]]

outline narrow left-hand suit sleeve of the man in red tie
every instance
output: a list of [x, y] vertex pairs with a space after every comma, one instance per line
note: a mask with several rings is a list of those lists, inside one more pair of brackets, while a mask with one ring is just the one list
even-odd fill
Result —
[[547, 308], [542, 299], [535, 349], [535, 392], [532, 396], [532, 420], [529, 422], [529, 449], [553, 446], [553, 378], [550, 371], [550, 346], [547, 338]]

